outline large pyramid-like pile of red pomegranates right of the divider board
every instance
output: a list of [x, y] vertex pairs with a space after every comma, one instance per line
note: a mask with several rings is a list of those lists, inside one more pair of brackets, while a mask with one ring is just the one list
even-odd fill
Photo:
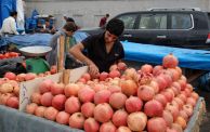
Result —
[[86, 132], [183, 132], [199, 95], [169, 54], [162, 65], [124, 63], [76, 83], [44, 80], [26, 113]]

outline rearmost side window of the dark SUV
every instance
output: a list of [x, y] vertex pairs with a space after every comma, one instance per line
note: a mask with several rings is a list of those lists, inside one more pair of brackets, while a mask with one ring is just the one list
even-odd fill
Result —
[[172, 29], [188, 29], [192, 28], [191, 14], [172, 14], [171, 28]]

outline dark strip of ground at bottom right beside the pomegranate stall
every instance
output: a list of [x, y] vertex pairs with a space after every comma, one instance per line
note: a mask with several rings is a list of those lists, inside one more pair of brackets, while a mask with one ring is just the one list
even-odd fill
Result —
[[198, 94], [205, 97], [207, 114], [204, 118], [204, 122], [200, 126], [200, 132], [210, 132], [210, 92], [200, 89], [196, 90]]

